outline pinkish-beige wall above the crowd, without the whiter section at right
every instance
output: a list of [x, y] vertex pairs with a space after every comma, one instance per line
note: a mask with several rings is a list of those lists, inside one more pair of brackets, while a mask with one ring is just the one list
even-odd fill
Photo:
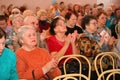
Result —
[[[6, 4], [7, 6], [9, 4], [14, 4], [15, 6], [21, 6], [23, 4], [27, 5], [29, 8], [34, 9], [36, 6], [40, 6], [41, 8], [48, 8], [51, 5], [52, 0], [0, 0], [1, 4]], [[59, 3], [60, 1], [64, 1], [66, 4], [68, 3], [78, 3], [78, 4], [94, 4], [96, 3], [96, 0], [57, 0]]]

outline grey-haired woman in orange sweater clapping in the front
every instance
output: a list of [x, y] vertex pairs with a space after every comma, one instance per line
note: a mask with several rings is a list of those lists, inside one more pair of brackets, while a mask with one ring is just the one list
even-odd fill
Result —
[[22, 43], [22, 47], [16, 51], [20, 79], [52, 80], [61, 74], [57, 59], [51, 58], [45, 49], [36, 47], [37, 35], [32, 26], [22, 26], [18, 30], [18, 38]]

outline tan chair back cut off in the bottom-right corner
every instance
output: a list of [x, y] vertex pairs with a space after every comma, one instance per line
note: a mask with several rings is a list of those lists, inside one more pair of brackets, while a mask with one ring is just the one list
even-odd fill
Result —
[[108, 74], [106, 77], [106, 80], [110, 80], [110, 77], [113, 75], [113, 80], [115, 80], [115, 74], [119, 74], [120, 75], [120, 69], [111, 69], [111, 70], [106, 70], [104, 72], [102, 72], [99, 77], [98, 80], [103, 80], [102, 77]]

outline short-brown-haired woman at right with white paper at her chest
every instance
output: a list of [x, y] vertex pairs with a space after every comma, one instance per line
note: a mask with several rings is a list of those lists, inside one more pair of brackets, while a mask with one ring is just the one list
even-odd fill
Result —
[[97, 15], [98, 20], [98, 29], [97, 32], [101, 35], [101, 37], [105, 36], [105, 39], [103, 39], [104, 45], [102, 45], [102, 52], [111, 51], [113, 48], [113, 43], [115, 41], [115, 38], [111, 36], [111, 31], [109, 28], [105, 26], [106, 23], [106, 13], [100, 12]]

